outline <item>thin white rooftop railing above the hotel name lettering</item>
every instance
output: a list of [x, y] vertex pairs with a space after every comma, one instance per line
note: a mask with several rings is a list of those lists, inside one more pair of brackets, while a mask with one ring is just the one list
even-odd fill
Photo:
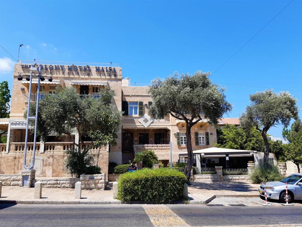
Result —
[[19, 60], [20, 64], [41, 64], [41, 65], [82, 65], [82, 66], [104, 66], [104, 67], [120, 67], [117, 63], [95, 63], [95, 62], [77, 62], [77, 61], [32, 61], [32, 60]]

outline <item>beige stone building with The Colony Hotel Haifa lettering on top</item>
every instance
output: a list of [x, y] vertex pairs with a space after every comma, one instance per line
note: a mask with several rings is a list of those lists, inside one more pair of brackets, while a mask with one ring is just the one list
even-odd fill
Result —
[[[19, 61], [14, 65], [13, 88], [11, 97], [11, 112], [9, 118], [0, 119], [0, 129], [7, 131], [7, 143], [0, 144], [1, 174], [20, 173], [23, 169], [25, 146], [26, 120], [23, 118], [27, 109], [31, 64], [34, 61]], [[99, 166], [103, 173], [108, 173], [108, 163], [129, 163], [135, 153], [142, 150], [154, 150], [164, 164], [170, 161], [170, 142], [172, 142], [172, 161], [185, 161], [186, 152], [186, 124], [172, 116], [162, 120], [149, 117], [148, 108], [152, 99], [147, 86], [131, 86], [128, 77], [123, 78], [119, 64], [70, 63], [38, 61], [43, 69], [41, 75], [45, 77], [40, 83], [40, 90], [54, 94], [56, 86], [74, 86], [79, 95], [97, 94], [99, 87], [109, 86], [115, 91], [112, 103], [119, 110], [124, 111], [123, 123], [118, 132], [117, 145], [101, 150]], [[19, 81], [19, 76], [23, 80]], [[52, 77], [52, 82], [47, 79]], [[37, 98], [37, 79], [33, 79], [31, 101]], [[41, 96], [43, 98], [43, 95]], [[51, 117], [51, 116], [50, 116]], [[221, 119], [221, 124], [228, 119]], [[238, 119], [231, 122], [239, 125]], [[216, 128], [204, 119], [191, 130], [193, 150], [212, 147], [217, 142]], [[76, 137], [77, 135], [75, 135]], [[29, 134], [27, 143], [27, 158], [32, 157], [33, 135]], [[35, 153], [36, 176], [64, 177], [68, 176], [64, 169], [65, 150], [72, 145], [67, 137], [57, 138], [49, 135], [46, 142], [37, 142]], [[97, 153], [97, 150], [92, 150]], [[106, 174], [107, 175], [107, 174]]]

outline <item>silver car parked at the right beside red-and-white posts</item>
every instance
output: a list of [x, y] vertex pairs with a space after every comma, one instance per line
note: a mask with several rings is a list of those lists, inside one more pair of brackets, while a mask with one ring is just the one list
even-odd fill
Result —
[[[267, 198], [286, 203], [285, 182], [288, 188], [288, 202], [294, 199], [302, 200], [302, 173], [291, 174], [280, 181], [267, 182], [265, 184]], [[264, 184], [260, 185], [258, 192], [260, 196], [265, 197]]]

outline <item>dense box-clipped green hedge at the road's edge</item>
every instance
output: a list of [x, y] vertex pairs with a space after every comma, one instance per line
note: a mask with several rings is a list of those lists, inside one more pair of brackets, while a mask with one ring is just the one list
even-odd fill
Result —
[[122, 201], [157, 203], [182, 200], [186, 182], [186, 176], [175, 169], [141, 169], [120, 175], [117, 197]]

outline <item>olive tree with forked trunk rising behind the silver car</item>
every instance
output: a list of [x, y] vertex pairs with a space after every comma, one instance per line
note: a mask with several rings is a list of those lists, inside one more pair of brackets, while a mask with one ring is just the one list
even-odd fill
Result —
[[240, 115], [240, 124], [245, 130], [252, 127], [261, 133], [264, 141], [264, 165], [269, 166], [269, 143], [267, 131], [276, 125], [288, 126], [292, 118], [297, 119], [298, 107], [297, 100], [288, 92], [279, 92], [272, 90], [256, 92], [249, 96], [250, 105], [246, 107], [245, 112]]

